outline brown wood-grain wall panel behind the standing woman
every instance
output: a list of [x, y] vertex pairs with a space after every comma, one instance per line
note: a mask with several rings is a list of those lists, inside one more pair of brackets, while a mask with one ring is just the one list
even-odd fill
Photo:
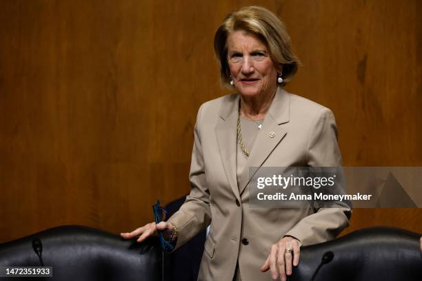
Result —
[[[189, 190], [192, 129], [219, 85], [212, 38], [259, 4], [303, 62], [288, 90], [336, 115], [345, 166], [422, 166], [421, 1], [0, 1], [0, 242], [129, 230]], [[422, 232], [419, 209], [356, 209], [348, 231]]]

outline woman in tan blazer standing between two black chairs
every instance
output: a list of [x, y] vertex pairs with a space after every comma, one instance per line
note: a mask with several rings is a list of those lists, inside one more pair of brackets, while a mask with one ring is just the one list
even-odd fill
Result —
[[210, 225], [199, 280], [286, 280], [300, 247], [335, 238], [348, 226], [350, 209], [250, 208], [249, 167], [340, 166], [334, 116], [283, 90], [299, 61], [269, 10], [252, 6], [229, 14], [214, 51], [221, 80], [239, 94], [199, 109], [190, 195], [168, 222], [121, 235], [141, 242], [169, 229], [177, 248]]

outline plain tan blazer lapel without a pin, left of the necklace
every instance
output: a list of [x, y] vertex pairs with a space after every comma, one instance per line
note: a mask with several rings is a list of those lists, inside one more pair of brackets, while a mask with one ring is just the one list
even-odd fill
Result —
[[232, 187], [236, 198], [240, 201], [239, 187], [237, 187], [236, 151], [237, 151], [237, 116], [239, 114], [239, 94], [228, 96], [223, 101], [220, 118], [215, 127], [217, 143], [225, 176]]

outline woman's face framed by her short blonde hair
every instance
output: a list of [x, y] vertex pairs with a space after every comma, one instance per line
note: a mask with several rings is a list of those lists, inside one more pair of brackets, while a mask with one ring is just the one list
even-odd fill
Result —
[[230, 74], [242, 96], [272, 95], [277, 89], [277, 67], [265, 44], [252, 34], [238, 30], [229, 34]]

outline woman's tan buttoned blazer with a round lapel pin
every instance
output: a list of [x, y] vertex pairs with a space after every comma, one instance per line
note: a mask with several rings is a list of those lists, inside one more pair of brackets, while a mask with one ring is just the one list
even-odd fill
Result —
[[[350, 209], [250, 208], [248, 167], [341, 165], [334, 116], [328, 108], [277, 90], [248, 163], [237, 183], [239, 94], [199, 108], [190, 167], [192, 189], [169, 221], [179, 229], [177, 247], [210, 225], [199, 280], [231, 281], [239, 260], [241, 279], [271, 280], [261, 273], [270, 246], [283, 236], [303, 245], [336, 237], [348, 226]], [[270, 132], [275, 136], [271, 138]]]

